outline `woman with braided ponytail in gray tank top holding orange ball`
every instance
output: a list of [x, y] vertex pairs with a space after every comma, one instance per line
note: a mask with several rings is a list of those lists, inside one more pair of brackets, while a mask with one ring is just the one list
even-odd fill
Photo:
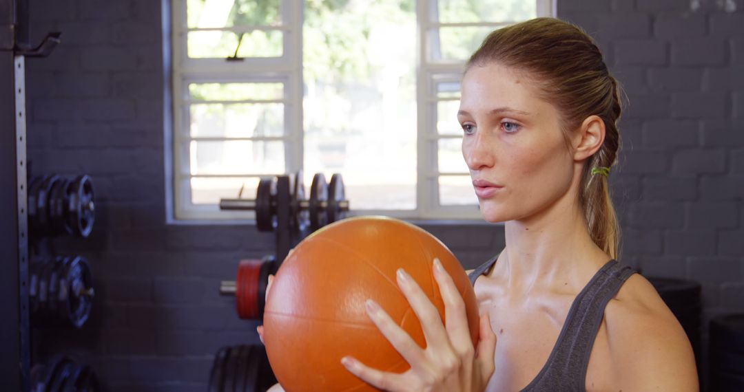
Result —
[[368, 303], [411, 369], [384, 373], [350, 357], [344, 366], [390, 391], [696, 391], [679, 322], [614, 261], [607, 176], [619, 117], [617, 82], [577, 27], [541, 18], [491, 33], [467, 63], [458, 113], [481, 213], [505, 225], [504, 250], [470, 275], [481, 340], [472, 347], [462, 298], [434, 262], [444, 323], [399, 276], [425, 320], [425, 350]]

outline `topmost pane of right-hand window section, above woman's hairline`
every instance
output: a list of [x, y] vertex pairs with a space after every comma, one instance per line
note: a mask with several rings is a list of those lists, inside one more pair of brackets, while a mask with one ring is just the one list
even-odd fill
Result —
[[443, 23], [517, 22], [537, 15], [535, 0], [438, 0], [437, 4]]

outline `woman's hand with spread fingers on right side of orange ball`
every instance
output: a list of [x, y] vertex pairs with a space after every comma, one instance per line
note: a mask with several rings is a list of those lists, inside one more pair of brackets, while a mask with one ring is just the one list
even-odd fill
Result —
[[434, 278], [444, 301], [446, 322], [410, 275], [398, 270], [403, 295], [421, 321], [426, 349], [421, 349], [378, 304], [367, 301], [367, 313], [380, 332], [411, 365], [405, 373], [388, 373], [362, 364], [351, 356], [341, 363], [351, 373], [385, 391], [484, 391], [494, 370], [496, 334], [487, 313], [481, 316], [477, 349], [472, 346], [465, 303], [452, 278], [434, 259]]

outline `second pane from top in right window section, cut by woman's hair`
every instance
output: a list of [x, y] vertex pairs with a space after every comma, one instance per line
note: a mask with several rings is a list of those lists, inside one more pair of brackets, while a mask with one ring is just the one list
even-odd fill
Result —
[[493, 27], [440, 27], [429, 30], [432, 61], [466, 61]]

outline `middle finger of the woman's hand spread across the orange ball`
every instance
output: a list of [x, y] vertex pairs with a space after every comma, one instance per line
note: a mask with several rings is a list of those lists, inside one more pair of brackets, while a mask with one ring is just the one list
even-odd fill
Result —
[[426, 337], [426, 345], [434, 347], [449, 348], [449, 338], [443, 326], [443, 320], [439, 316], [437, 308], [434, 307], [429, 297], [423, 293], [421, 287], [401, 268], [397, 272], [398, 286], [411, 304], [411, 309], [416, 313], [423, 334]]

